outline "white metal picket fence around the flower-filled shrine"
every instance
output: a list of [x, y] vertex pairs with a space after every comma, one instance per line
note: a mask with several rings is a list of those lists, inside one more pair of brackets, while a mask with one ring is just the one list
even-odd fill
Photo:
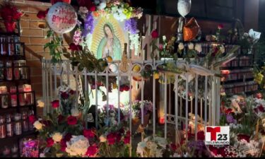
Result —
[[[175, 64], [177, 64], [177, 66], [184, 66], [184, 68], [189, 71], [189, 65], [187, 65], [184, 61], [181, 60], [177, 60], [177, 61], [172, 61], [175, 62]], [[78, 97], [79, 93], [81, 93], [81, 95], [83, 95], [85, 92], [89, 92], [90, 91], [90, 85], [88, 84], [88, 76], [94, 76], [95, 77], [95, 83], [96, 81], [98, 81], [98, 77], [99, 76], [105, 76], [106, 77], [106, 81], [108, 81], [108, 78], [110, 76], [117, 76], [117, 86], [118, 86], [118, 90], [120, 87], [120, 83], [119, 83], [119, 78], [122, 76], [126, 76], [129, 78], [129, 86], [132, 86], [132, 82], [133, 76], [140, 76], [140, 73], [135, 73], [134, 71], [132, 71], [132, 69], [134, 68], [135, 65], [139, 65], [141, 67], [141, 69], [145, 68], [146, 66], [151, 67], [152, 69], [157, 69], [157, 67], [161, 64], [164, 64], [165, 61], [130, 61], [129, 63], [129, 69], [126, 72], [120, 71], [119, 69], [119, 65], [120, 62], [119, 61], [114, 61], [110, 66], [105, 69], [105, 71], [103, 72], [88, 72], [85, 70], [83, 71], [78, 71], [77, 67], [74, 69], [71, 69], [71, 64], [69, 63], [69, 61], [64, 61], [62, 64], [56, 64], [56, 66], [54, 66], [50, 60], [46, 60], [46, 59], [42, 59], [42, 91], [43, 91], [43, 100], [45, 102], [45, 109], [44, 109], [44, 114], [47, 114], [47, 112], [51, 112], [52, 108], [50, 106], [50, 102], [52, 102], [52, 100], [55, 100], [57, 98], [57, 88], [61, 85], [63, 85], [64, 83], [66, 85], [70, 85], [71, 84], [71, 80], [73, 81], [73, 85], [75, 88], [73, 88], [73, 90], [78, 90], [76, 91], [76, 96]], [[117, 71], [112, 71], [110, 69], [110, 67], [112, 67], [113, 69], [114, 67], [117, 67]], [[218, 72], [216, 72], [218, 73]], [[81, 92], [80, 88], [81, 88], [81, 81], [80, 81], [80, 77], [83, 76], [85, 81], [83, 82], [83, 86], [84, 86], [84, 91], [85, 92]], [[175, 133], [175, 137], [176, 137], [176, 142], [177, 142], [177, 138], [179, 136], [179, 125], [181, 123], [185, 124], [185, 128], [184, 128], [184, 134], [185, 136], [188, 135], [188, 126], [189, 122], [193, 122], [194, 123], [194, 133], [195, 133], [195, 139], [197, 139], [196, 136], [196, 132], [197, 132], [197, 127], [199, 124], [201, 124], [202, 126], [206, 126], [206, 125], [218, 125], [218, 121], [219, 121], [219, 114], [220, 114], [220, 78], [216, 77], [216, 76], [204, 76], [199, 74], [199, 72], [195, 72], [195, 87], [194, 87], [194, 99], [190, 100], [190, 99], [186, 99], [184, 100], [184, 102], [182, 102], [182, 99], [185, 97], [188, 97], [188, 91], [184, 92], [184, 94], [179, 93], [179, 85], [180, 85], [180, 81], [181, 78], [179, 77], [186, 77], [189, 78], [189, 74], [188, 73], [182, 73], [182, 74], [177, 74], [175, 73], [175, 94], [172, 93], [172, 95], [175, 95], [173, 98], [175, 98], [175, 103], [174, 104], [170, 104], [170, 107], [168, 107], [167, 105], [167, 89], [168, 87], [170, 87], [167, 84], [167, 76], [165, 76], [165, 83], [164, 84], [160, 84], [160, 85], [164, 85], [164, 92], [161, 92], [160, 95], [164, 95], [164, 119], [165, 119], [165, 130], [164, 130], [164, 135], [165, 138], [167, 138], [167, 129], [168, 128], [172, 128], [175, 129], [175, 132], [173, 132], [173, 134]], [[198, 82], [198, 79], [203, 78], [204, 79], [204, 83], [202, 82]], [[156, 103], [156, 98], [158, 98], [155, 94], [155, 89], [158, 89], [158, 85], [155, 84], [156, 79], [151, 76], [151, 78], [149, 80], [153, 80], [153, 88], [148, 88], [148, 92], [153, 93], [153, 135], [156, 134], [155, 132], [155, 127], [158, 126], [157, 124], [157, 114], [155, 113], [155, 109], [156, 107], [160, 107], [160, 105], [158, 105], [159, 103]], [[140, 86], [141, 86], [141, 100], [145, 100], [146, 97], [144, 97], [143, 93], [144, 93], [144, 83], [146, 81], [143, 81], [143, 78], [141, 81], [139, 81]], [[182, 81], [183, 82], [183, 81]], [[210, 84], [208, 84], [210, 83]], [[184, 88], [186, 88], [186, 90], [189, 90], [189, 84], [187, 81], [184, 82]], [[98, 110], [98, 89], [97, 89], [97, 85], [95, 85], [95, 106], [96, 106], [96, 110]], [[204, 88], [203, 92], [204, 93], [199, 93], [199, 87], [200, 88]], [[76, 89], [78, 88], [78, 89]], [[108, 83], [106, 88], [108, 88]], [[108, 93], [108, 89], [107, 90], [107, 117], [109, 117], [109, 93]], [[118, 103], [118, 109], [119, 109], [119, 113], [118, 113], [118, 118], [120, 121], [120, 92], [118, 91], [117, 93], [117, 103]], [[131, 94], [132, 94], [132, 89], [129, 89], [129, 111], [131, 114], [132, 111], [132, 98], [131, 98]], [[171, 94], [171, 92], [170, 92]], [[169, 98], [172, 98], [171, 95], [169, 96]], [[194, 101], [194, 108], [193, 108], [193, 101]], [[192, 106], [191, 106], [192, 105]], [[143, 105], [142, 105], [143, 106]], [[174, 107], [173, 109], [171, 109], [172, 107]], [[182, 107], [184, 107], [184, 109], [182, 110]], [[171, 112], [170, 110], [175, 110], [175, 112]], [[143, 112], [143, 107], [141, 107], [141, 111]], [[166, 113], [165, 113], [166, 112]], [[192, 112], [192, 114], [195, 114], [194, 119], [191, 119], [189, 117], [189, 113]], [[143, 113], [141, 113], [142, 117], [141, 117], [141, 124], [143, 124]], [[201, 117], [202, 119], [198, 118]], [[204, 121], [204, 122], [203, 122]], [[95, 112], [95, 122], [96, 125], [98, 125], [98, 111]], [[168, 127], [167, 127], [168, 126]], [[131, 130], [131, 117], [129, 118], [129, 128]], [[188, 138], [186, 137], [186, 140]]]

